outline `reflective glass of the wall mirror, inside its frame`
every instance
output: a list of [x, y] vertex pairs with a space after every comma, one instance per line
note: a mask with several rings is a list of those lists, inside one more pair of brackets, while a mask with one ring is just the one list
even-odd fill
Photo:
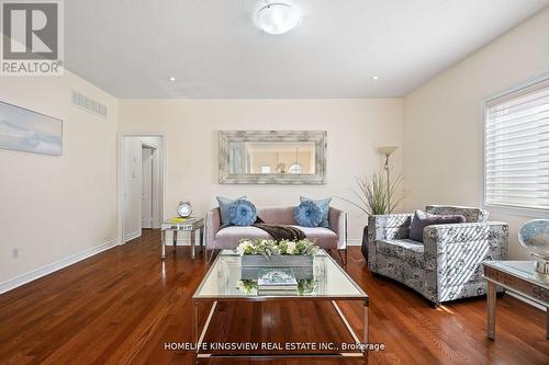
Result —
[[315, 142], [229, 142], [229, 174], [315, 174]]

